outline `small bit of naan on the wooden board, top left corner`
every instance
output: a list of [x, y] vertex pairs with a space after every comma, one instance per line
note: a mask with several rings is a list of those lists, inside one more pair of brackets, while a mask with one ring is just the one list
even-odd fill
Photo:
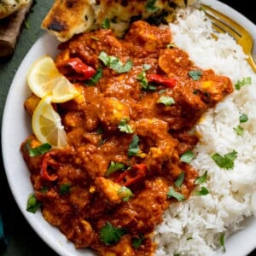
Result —
[[0, 19], [26, 6], [31, 0], [0, 0]]

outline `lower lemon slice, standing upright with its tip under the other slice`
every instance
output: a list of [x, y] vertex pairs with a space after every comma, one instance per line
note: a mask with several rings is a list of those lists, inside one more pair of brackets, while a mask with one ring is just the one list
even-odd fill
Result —
[[45, 96], [32, 114], [32, 131], [40, 143], [49, 143], [53, 148], [67, 145], [67, 134], [61, 125], [59, 113], [51, 105], [52, 96]]

